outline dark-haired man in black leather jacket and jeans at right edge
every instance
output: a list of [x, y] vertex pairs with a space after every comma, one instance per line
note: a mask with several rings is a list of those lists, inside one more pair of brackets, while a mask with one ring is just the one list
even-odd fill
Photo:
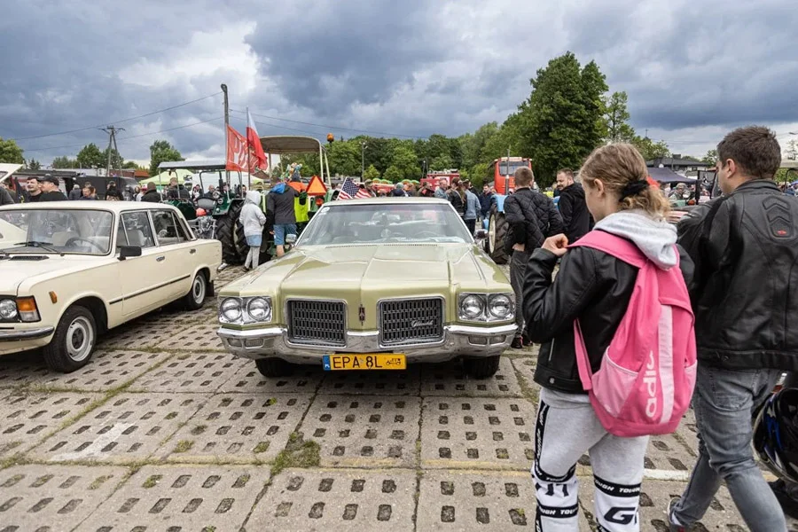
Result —
[[781, 148], [770, 129], [735, 129], [717, 155], [724, 196], [678, 225], [679, 243], [695, 262], [692, 405], [700, 445], [684, 495], [671, 502], [670, 525], [686, 530], [700, 520], [725, 481], [748, 528], [786, 530], [754, 459], [751, 418], [781, 372], [798, 370], [798, 202], [773, 182]]

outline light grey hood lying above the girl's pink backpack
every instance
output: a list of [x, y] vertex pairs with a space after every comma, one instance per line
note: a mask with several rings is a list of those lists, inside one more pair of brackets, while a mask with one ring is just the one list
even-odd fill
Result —
[[629, 239], [661, 270], [677, 265], [677, 230], [672, 224], [653, 220], [645, 211], [625, 210], [606, 216], [595, 229]]

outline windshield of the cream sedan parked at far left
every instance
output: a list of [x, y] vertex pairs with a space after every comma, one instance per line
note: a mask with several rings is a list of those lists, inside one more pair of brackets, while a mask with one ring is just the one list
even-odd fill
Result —
[[0, 210], [0, 251], [107, 254], [113, 215], [89, 209]]

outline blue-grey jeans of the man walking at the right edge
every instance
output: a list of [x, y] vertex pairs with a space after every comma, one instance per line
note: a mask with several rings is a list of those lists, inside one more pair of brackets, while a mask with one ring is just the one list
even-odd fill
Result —
[[724, 370], [699, 363], [692, 407], [699, 458], [672, 518], [689, 527], [707, 512], [726, 482], [752, 532], [785, 532], [776, 496], [754, 460], [754, 411], [770, 396], [780, 370]]

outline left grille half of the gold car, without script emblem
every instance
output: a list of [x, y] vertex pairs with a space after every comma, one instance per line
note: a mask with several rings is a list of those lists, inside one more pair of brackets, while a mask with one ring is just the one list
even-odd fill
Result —
[[344, 346], [347, 305], [341, 301], [288, 301], [288, 339], [296, 344]]

